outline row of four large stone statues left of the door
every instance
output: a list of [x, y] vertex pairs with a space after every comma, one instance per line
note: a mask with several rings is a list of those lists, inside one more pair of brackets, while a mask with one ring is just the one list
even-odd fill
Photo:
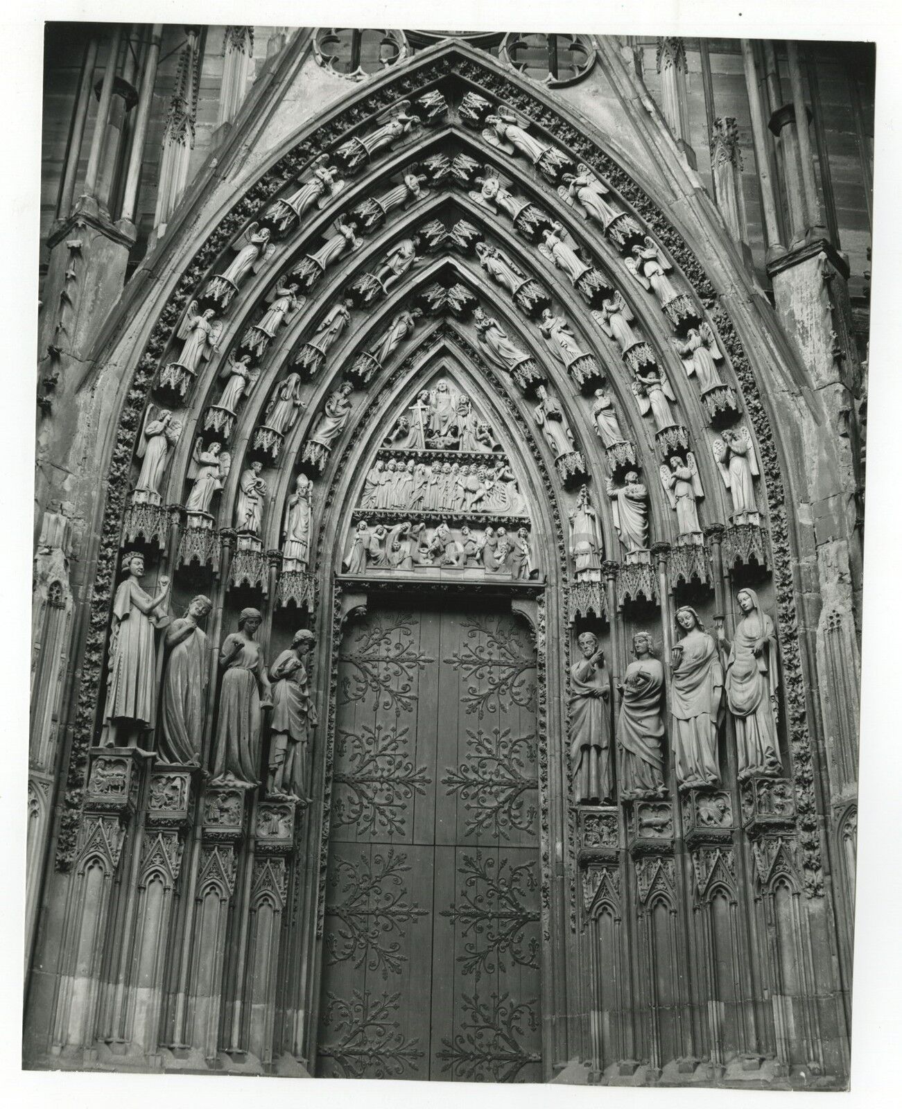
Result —
[[[144, 558], [140, 552], [126, 552], [122, 569], [125, 577], [113, 601], [100, 745], [149, 750], [155, 735], [162, 762], [200, 765], [210, 674], [210, 647], [201, 622], [212, 602], [195, 597], [183, 615], [173, 618], [168, 578], [158, 579], [158, 592], [151, 596], [141, 584]], [[315, 637], [298, 631], [291, 647], [267, 667], [256, 639], [262, 620], [256, 609], [243, 609], [237, 630], [226, 635], [220, 650], [212, 784], [247, 788], [261, 784], [264, 709], [271, 709], [267, 795], [307, 801], [307, 764], [317, 715], [305, 659]], [[158, 652], [164, 658], [162, 681]]]

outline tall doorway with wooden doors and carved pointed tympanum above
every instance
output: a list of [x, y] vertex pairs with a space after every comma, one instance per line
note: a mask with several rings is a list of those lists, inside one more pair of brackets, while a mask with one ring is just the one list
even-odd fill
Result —
[[397, 394], [341, 538], [354, 619], [337, 655], [323, 1077], [544, 1077], [539, 667], [520, 614], [544, 587], [516, 547], [527, 482], [458, 369], [436, 359]]

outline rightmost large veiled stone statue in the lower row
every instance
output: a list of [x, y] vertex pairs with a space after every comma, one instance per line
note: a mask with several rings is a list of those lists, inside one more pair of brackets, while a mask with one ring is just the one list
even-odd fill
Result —
[[718, 631], [727, 657], [727, 705], [736, 724], [739, 780], [753, 774], [779, 775], [782, 763], [777, 741], [777, 632], [762, 612], [753, 589], [737, 594], [742, 619], [730, 642]]

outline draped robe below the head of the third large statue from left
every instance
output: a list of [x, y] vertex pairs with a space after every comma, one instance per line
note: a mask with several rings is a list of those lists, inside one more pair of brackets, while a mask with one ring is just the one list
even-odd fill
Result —
[[220, 689], [213, 779], [231, 774], [239, 782], [256, 785], [260, 770], [263, 652], [255, 640], [232, 634], [222, 645], [223, 655], [227, 655], [235, 643], [240, 643], [241, 649], [230, 659]]

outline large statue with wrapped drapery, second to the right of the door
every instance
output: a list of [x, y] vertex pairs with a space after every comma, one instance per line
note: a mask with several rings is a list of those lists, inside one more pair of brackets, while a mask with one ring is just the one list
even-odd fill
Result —
[[651, 637], [632, 637], [636, 660], [627, 667], [620, 691], [617, 742], [620, 752], [620, 797], [660, 796], [663, 786], [663, 667], [655, 658]]

